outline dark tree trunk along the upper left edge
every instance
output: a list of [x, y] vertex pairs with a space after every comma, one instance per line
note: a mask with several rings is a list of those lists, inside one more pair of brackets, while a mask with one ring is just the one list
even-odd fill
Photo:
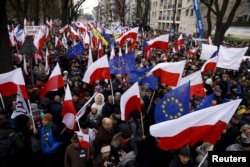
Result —
[[0, 1], [0, 73], [13, 70], [9, 32], [7, 29], [6, 2], [7, 0]]

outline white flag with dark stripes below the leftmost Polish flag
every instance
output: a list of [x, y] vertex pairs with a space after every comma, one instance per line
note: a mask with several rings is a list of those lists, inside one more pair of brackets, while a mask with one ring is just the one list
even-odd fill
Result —
[[14, 119], [19, 115], [26, 115], [29, 117], [29, 109], [26, 101], [23, 98], [21, 88], [19, 85], [17, 85], [16, 108], [11, 114], [11, 119]]

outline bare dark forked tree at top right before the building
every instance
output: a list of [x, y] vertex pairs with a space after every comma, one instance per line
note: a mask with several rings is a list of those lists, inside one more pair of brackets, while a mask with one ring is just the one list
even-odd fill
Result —
[[[232, 8], [229, 7], [228, 0], [201, 0], [207, 8], [207, 21], [208, 21], [208, 35], [211, 34], [212, 30], [212, 21], [211, 21], [211, 13], [216, 16], [216, 29], [215, 29], [215, 45], [219, 46], [223, 41], [224, 35], [227, 29], [232, 25], [235, 13], [240, 6], [242, 0], [235, 0], [234, 3], [230, 1]], [[229, 12], [229, 15], [226, 17], [226, 13]]]

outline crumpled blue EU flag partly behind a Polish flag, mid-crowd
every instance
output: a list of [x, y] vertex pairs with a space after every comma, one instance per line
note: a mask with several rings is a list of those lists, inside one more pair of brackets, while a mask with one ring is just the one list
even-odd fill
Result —
[[158, 82], [159, 82], [159, 77], [154, 76], [154, 75], [147, 75], [147, 73], [153, 68], [147, 67], [147, 68], [139, 68], [139, 69], [134, 69], [129, 72], [129, 79], [127, 82], [138, 82], [139, 84], [149, 84], [149, 88], [155, 90]]

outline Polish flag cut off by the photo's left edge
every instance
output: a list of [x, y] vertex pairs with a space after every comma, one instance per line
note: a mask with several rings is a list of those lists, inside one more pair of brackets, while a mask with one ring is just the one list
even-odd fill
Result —
[[21, 68], [0, 74], [0, 93], [2, 96], [17, 94], [17, 86], [20, 87], [23, 97], [28, 99], [27, 89]]

